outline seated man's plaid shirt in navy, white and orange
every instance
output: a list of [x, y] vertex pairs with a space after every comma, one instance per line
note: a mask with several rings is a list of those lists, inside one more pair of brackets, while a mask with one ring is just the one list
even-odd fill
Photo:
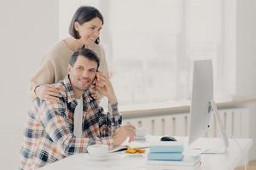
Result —
[[24, 140], [21, 146], [20, 169], [36, 169], [61, 160], [74, 153], [87, 152], [90, 144], [109, 144], [113, 147], [113, 133], [120, 126], [122, 116], [118, 105], [108, 105], [104, 114], [90, 91], [83, 94], [83, 137], [73, 134], [73, 113], [77, 101], [68, 76], [55, 85], [63, 85], [65, 92], [54, 105], [36, 99], [28, 112]]

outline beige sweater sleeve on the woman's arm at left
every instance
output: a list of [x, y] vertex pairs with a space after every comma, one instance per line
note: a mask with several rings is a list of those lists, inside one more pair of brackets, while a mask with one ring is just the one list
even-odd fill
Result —
[[32, 101], [37, 98], [35, 94], [35, 88], [38, 85], [51, 84], [54, 82], [54, 65], [50, 59], [45, 59], [29, 82], [29, 96], [32, 99]]

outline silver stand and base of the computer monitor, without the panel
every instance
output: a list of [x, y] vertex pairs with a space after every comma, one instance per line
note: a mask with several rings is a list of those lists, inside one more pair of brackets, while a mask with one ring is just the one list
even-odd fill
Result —
[[229, 147], [229, 139], [224, 131], [223, 122], [221, 122], [217, 105], [213, 99], [209, 101], [209, 113], [211, 112], [216, 118], [217, 127], [220, 131], [220, 138], [211, 139], [211, 142], [209, 142], [207, 138], [196, 139], [195, 142], [189, 145], [189, 149], [202, 150], [201, 153], [203, 154], [225, 153]]

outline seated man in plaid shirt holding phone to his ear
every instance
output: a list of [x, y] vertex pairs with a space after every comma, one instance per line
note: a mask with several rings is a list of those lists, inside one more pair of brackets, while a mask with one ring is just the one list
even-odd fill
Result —
[[[90, 49], [76, 51], [69, 60], [67, 77], [55, 83], [65, 88], [59, 101], [50, 104], [35, 100], [28, 113], [20, 169], [36, 169], [74, 153], [87, 152], [90, 144], [108, 144], [112, 148], [122, 144], [127, 137], [133, 140], [135, 128], [131, 125], [120, 127], [122, 116], [117, 99], [108, 77], [97, 71], [99, 63]], [[99, 94], [108, 98], [107, 115], [91, 97], [89, 88], [94, 82]], [[74, 120], [79, 113], [80, 128], [76, 122], [79, 119]]]

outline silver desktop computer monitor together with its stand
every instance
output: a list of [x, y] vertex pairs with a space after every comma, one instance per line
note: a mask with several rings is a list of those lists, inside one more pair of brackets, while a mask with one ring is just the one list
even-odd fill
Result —
[[[221, 139], [214, 145], [207, 145], [205, 137], [211, 114], [215, 116]], [[212, 118], [213, 118], [212, 116]], [[192, 100], [190, 107], [189, 144], [191, 149], [207, 150], [207, 153], [222, 153], [227, 150], [229, 141], [219, 118], [218, 109], [213, 100], [212, 60], [195, 60], [193, 71]], [[221, 145], [220, 145], [221, 144]], [[223, 147], [221, 147], [223, 146]]]

